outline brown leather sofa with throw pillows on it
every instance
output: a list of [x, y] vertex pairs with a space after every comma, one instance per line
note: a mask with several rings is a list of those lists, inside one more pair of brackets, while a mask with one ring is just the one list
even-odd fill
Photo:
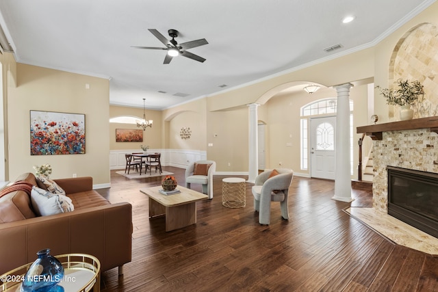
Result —
[[[37, 185], [34, 174], [16, 181]], [[101, 271], [131, 261], [132, 206], [111, 204], [92, 189], [92, 178], [54, 179], [72, 199], [75, 210], [37, 217], [26, 191], [12, 191], [0, 198], [0, 274], [36, 260], [36, 252], [84, 253], [99, 258]]]

